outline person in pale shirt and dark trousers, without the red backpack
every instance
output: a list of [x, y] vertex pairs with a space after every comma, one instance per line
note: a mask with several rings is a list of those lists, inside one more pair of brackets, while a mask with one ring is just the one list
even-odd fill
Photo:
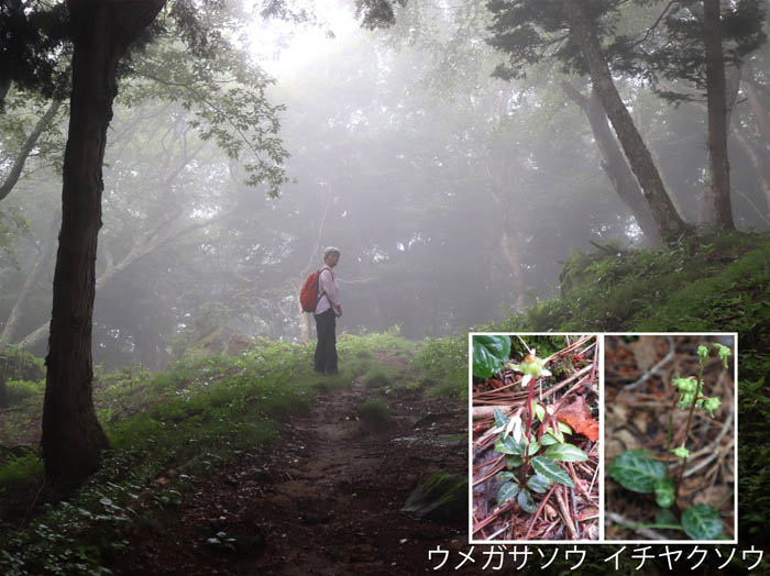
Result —
[[323, 251], [323, 267], [318, 273], [318, 304], [316, 306], [315, 369], [321, 374], [337, 374], [337, 318], [342, 315], [340, 293], [332, 268], [340, 262], [340, 251], [329, 246]]

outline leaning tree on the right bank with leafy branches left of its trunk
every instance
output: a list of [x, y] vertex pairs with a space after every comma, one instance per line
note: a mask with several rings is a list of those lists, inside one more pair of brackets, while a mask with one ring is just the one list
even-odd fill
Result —
[[497, 74], [521, 76], [527, 65], [544, 58], [561, 62], [565, 69], [587, 73], [624, 153], [649, 203], [661, 237], [675, 239], [684, 222], [669, 198], [652, 156], [624, 104], [612, 77], [612, 54], [602, 45], [609, 35], [623, 1], [592, 0], [492, 0], [495, 16], [491, 44], [509, 55]]

